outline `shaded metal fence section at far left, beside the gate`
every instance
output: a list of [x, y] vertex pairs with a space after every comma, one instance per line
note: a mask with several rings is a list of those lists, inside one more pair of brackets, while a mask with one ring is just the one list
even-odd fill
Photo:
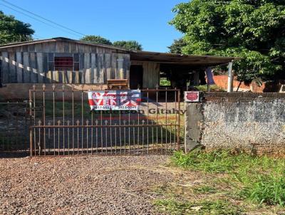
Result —
[[28, 103], [0, 103], [0, 152], [29, 152]]

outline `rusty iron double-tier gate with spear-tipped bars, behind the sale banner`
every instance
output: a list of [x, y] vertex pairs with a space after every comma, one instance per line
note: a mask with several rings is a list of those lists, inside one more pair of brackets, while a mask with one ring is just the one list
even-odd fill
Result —
[[[93, 90], [95, 91], [95, 90]], [[88, 90], [29, 90], [30, 154], [170, 154], [180, 149], [180, 90], [143, 89], [139, 111], [90, 111]]]

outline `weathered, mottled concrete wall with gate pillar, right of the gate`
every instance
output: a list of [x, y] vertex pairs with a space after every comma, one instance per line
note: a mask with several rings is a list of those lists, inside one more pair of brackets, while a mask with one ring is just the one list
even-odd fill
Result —
[[186, 145], [285, 154], [285, 95], [204, 93], [187, 103]]

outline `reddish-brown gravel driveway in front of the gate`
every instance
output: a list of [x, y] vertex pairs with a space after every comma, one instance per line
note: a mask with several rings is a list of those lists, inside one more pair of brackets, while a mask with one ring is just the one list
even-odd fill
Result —
[[157, 214], [169, 157], [0, 159], [0, 214]]

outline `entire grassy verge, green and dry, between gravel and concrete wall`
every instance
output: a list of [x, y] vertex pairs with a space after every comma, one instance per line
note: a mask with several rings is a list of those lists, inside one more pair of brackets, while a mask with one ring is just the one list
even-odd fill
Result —
[[199, 177], [197, 182], [180, 179], [177, 184], [159, 188], [157, 193], [163, 197], [155, 205], [169, 214], [285, 211], [285, 159], [197, 149], [188, 154], [175, 152], [172, 168], [175, 167], [182, 168], [183, 174]]

